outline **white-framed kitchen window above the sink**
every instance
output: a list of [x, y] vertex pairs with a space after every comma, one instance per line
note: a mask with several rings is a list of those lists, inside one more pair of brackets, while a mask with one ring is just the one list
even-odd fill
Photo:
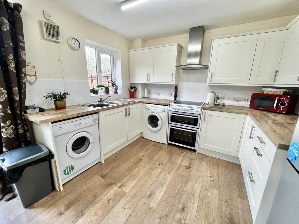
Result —
[[112, 91], [111, 79], [117, 83], [116, 74], [116, 52], [98, 47], [96, 45], [86, 44], [86, 63], [89, 80], [89, 88], [97, 85], [108, 86]]

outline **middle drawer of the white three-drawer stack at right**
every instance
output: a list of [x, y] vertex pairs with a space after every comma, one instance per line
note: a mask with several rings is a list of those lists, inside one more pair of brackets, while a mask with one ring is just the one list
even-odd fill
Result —
[[257, 184], [259, 185], [261, 192], [263, 192], [269, 176], [271, 162], [260, 147], [257, 139], [254, 138], [254, 143], [252, 145], [252, 154], [249, 157], [249, 161], [252, 170], [255, 173]]

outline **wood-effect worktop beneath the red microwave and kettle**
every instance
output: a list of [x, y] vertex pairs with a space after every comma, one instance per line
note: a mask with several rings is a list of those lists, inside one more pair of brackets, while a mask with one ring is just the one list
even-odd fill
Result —
[[239, 113], [248, 115], [257, 126], [266, 134], [271, 142], [280, 149], [288, 150], [297, 124], [298, 115], [280, 114], [268, 111], [260, 111], [248, 107], [227, 105], [228, 110], [209, 108], [205, 105], [203, 110], [221, 111], [227, 113]]

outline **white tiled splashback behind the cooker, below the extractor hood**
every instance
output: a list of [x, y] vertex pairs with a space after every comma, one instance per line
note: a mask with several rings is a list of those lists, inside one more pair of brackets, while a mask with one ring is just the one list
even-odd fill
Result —
[[[180, 82], [178, 85], [179, 100], [205, 102], [207, 93], [213, 91], [219, 96], [224, 96], [223, 102], [227, 105], [249, 106], [251, 93], [261, 92], [260, 86], [225, 86], [225, 85], [207, 85], [208, 70], [181, 70]], [[148, 97], [159, 99], [174, 99], [174, 87], [171, 84], [146, 84]], [[155, 92], [160, 92], [156, 96]], [[172, 93], [172, 96], [168, 96]], [[248, 102], [234, 102], [233, 96], [247, 97]]]

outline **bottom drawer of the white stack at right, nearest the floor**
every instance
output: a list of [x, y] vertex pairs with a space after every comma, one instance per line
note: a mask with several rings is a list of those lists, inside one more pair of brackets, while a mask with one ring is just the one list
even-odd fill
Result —
[[259, 185], [257, 184], [257, 179], [250, 163], [244, 179], [247, 188], [247, 194], [249, 193], [248, 196], [250, 196], [248, 197], [248, 201], [250, 205], [251, 215], [254, 220], [260, 205], [262, 193], [260, 191]]

